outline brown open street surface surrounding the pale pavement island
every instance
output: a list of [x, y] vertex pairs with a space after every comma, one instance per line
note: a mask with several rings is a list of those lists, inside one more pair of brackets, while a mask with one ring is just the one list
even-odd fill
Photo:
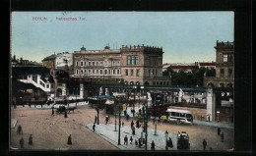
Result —
[[[50, 150], [120, 150], [127, 148], [118, 148], [113, 142], [100, 135], [97, 135], [93, 130], [90, 130], [92, 124], [95, 122], [96, 110], [89, 108], [89, 106], [78, 106], [75, 112], [68, 114], [68, 118], [64, 118], [63, 114], [51, 116], [51, 109], [46, 108], [16, 108], [11, 109], [11, 119], [16, 119], [17, 124], [14, 129], [11, 129], [11, 148], [20, 148], [19, 141], [23, 137], [25, 140], [25, 149], [50, 149]], [[103, 129], [100, 133], [113, 131], [114, 130], [114, 116], [110, 116], [110, 121], [105, 126], [105, 111], [99, 111], [99, 123]], [[121, 118], [124, 122], [124, 127], [130, 130], [129, 121]], [[134, 120], [135, 122], [135, 120]], [[117, 117], [118, 124], [118, 117]], [[21, 125], [23, 128], [23, 134], [17, 134], [18, 126]], [[88, 127], [87, 127], [88, 126]], [[99, 126], [96, 126], [98, 128]], [[149, 131], [154, 131], [155, 126], [153, 122], [149, 122]], [[217, 134], [216, 127], [207, 127], [199, 125], [176, 125], [160, 123], [157, 130], [160, 136], [161, 132], [167, 130], [169, 136], [175, 136], [178, 131], [186, 131], [190, 137], [190, 150], [202, 150], [203, 139], [207, 140], [207, 150], [212, 147], [213, 150], [229, 150], [233, 148], [233, 129], [221, 129], [224, 132], [224, 142], [221, 142], [221, 136]], [[98, 130], [98, 129], [97, 129]], [[118, 125], [117, 125], [118, 130]], [[122, 130], [122, 128], [121, 128]], [[115, 131], [117, 132], [117, 131]], [[136, 133], [139, 130], [136, 129]], [[153, 132], [149, 132], [149, 135]], [[32, 134], [33, 145], [29, 145], [29, 136]], [[68, 136], [71, 134], [72, 145], [68, 145]], [[127, 134], [129, 135], [129, 134]], [[112, 139], [117, 142], [117, 134], [113, 135]], [[122, 136], [122, 135], [121, 135]], [[129, 135], [130, 136], [130, 135]], [[149, 136], [152, 137], [153, 136]], [[162, 136], [158, 139], [163, 139]], [[150, 143], [151, 139], [148, 140]], [[173, 145], [175, 146], [175, 140]], [[121, 137], [121, 144], [123, 143], [123, 137]], [[158, 140], [155, 140], [156, 149], [164, 149]], [[128, 145], [129, 146], [129, 145]], [[135, 148], [128, 148], [135, 149]], [[148, 145], [150, 149], [150, 144]], [[176, 149], [174, 147], [173, 149]]]

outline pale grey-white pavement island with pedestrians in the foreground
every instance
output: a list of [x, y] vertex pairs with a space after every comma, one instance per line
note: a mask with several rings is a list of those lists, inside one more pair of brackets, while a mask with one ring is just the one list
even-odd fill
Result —
[[[94, 124], [87, 125], [87, 128], [89, 130], [93, 130]], [[96, 131], [95, 133], [99, 135], [100, 137], [104, 138], [117, 148], [121, 150], [145, 150], [145, 145], [143, 145], [141, 148], [135, 145], [135, 139], [139, 139], [142, 135], [142, 128], [135, 128], [135, 135], [132, 134], [131, 127], [121, 127], [120, 128], [120, 145], [118, 145], [118, 124], [116, 125], [116, 131], [115, 131], [115, 125], [105, 125], [105, 124], [99, 124], [96, 125]], [[148, 129], [148, 150], [151, 150], [151, 143], [154, 140], [155, 142], [155, 149], [156, 150], [165, 150], [165, 131], [157, 130], [157, 135], [155, 135], [155, 130]], [[128, 145], [124, 145], [124, 136], [127, 135], [128, 137]], [[133, 142], [130, 144], [130, 136], [133, 137]], [[168, 148], [169, 150], [176, 150], [177, 149], [177, 136], [176, 134], [168, 133], [168, 137], [171, 138], [173, 143], [173, 148]], [[143, 133], [143, 138], [145, 138], [145, 133]], [[139, 143], [139, 142], [138, 142]]]

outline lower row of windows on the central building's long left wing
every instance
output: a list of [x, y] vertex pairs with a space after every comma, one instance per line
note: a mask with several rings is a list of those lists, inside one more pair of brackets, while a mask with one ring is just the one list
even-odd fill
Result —
[[76, 75], [120, 75], [120, 70], [76, 70]]

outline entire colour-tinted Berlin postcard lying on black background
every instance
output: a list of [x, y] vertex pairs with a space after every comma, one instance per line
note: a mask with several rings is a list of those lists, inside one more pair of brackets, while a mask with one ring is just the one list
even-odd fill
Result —
[[233, 12], [12, 12], [10, 150], [232, 151]]

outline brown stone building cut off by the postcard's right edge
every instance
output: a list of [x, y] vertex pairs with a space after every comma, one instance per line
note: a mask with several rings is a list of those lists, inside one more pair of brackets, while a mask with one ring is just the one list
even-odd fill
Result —
[[233, 87], [234, 50], [233, 42], [219, 42], [216, 49], [216, 77], [205, 77], [204, 86]]

